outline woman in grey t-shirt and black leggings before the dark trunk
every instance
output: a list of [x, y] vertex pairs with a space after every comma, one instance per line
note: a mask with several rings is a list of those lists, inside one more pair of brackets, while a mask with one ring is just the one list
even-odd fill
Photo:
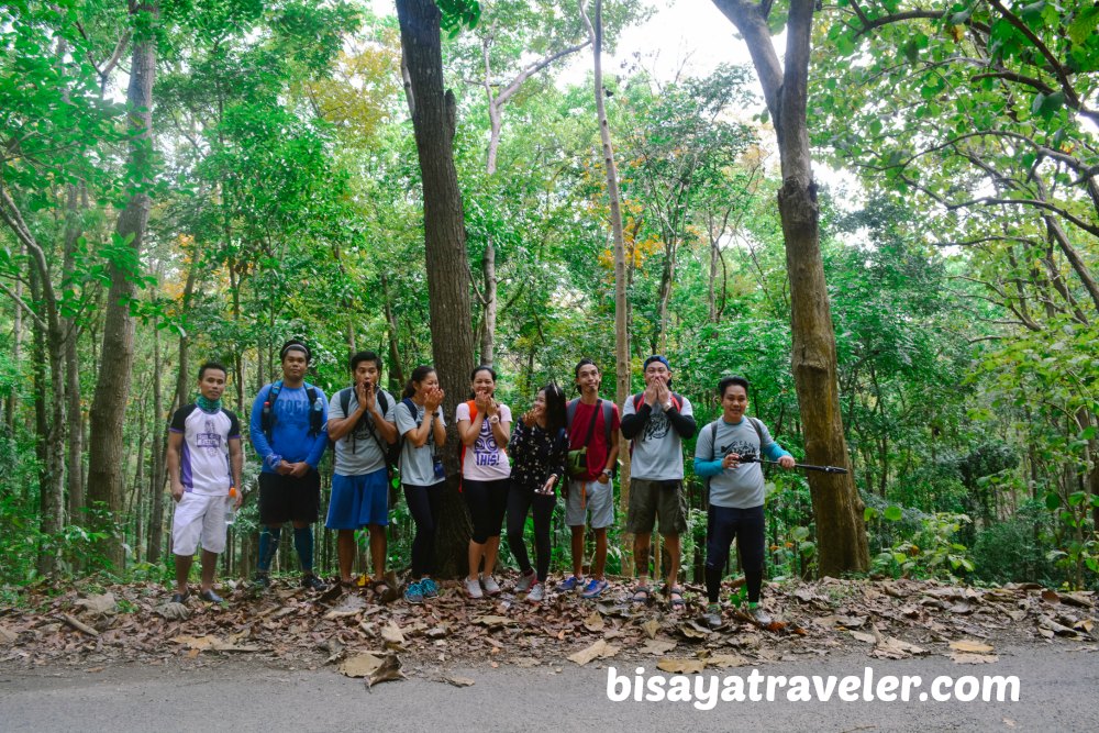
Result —
[[439, 448], [446, 443], [446, 423], [439, 407], [444, 397], [434, 367], [418, 366], [395, 411], [397, 433], [402, 440], [401, 485], [415, 522], [412, 575], [404, 589], [404, 600], [409, 603], [423, 603], [425, 598], [439, 596], [431, 573], [435, 565], [435, 529], [442, 507], [439, 485], [446, 480], [439, 455]]

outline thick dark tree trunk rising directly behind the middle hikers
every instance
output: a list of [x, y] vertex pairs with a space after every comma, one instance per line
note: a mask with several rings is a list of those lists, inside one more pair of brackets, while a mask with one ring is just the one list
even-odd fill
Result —
[[446, 391], [447, 475], [436, 557], [442, 576], [455, 576], [464, 563], [470, 526], [457, 492], [457, 429], [454, 410], [468, 387], [474, 336], [469, 303], [462, 192], [451, 146], [454, 95], [443, 90], [440, 12], [432, 0], [397, 0], [401, 46], [408, 65], [420, 175], [423, 181], [423, 229], [430, 299], [432, 357]]

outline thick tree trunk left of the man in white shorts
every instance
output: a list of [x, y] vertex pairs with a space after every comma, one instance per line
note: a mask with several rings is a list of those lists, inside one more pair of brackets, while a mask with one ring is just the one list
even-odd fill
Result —
[[[134, 136], [130, 144], [130, 167], [140, 176], [132, 181], [130, 199], [119, 214], [115, 234], [129, 243], [133, 252], [131, 266], [111, 263], [111, 288], [108, 293], [103, 323], [103, 349], [99, 366], [99, 380], [91, 402], [91, 438], [88, 456], [88, 500], [102, 502], [112, 517], [122, 509], [124, 443], [122, 423], [134, 359], [134, 319], [130, 315], [130, 301], [135, 295], [134, 268], [140, 267], [142, 242], [152, 206], [147, 189], [152, 184], [153, 137], [153, 78], [156, 71], [156, 36], [151, 26], [158, 14], [157, 3], [131, 3], [132, 15], [146, 14], [138, 27], [147, 32], [134, 38], [133, 62], [130, 69], [130, 89], [126, 104]], [[104, 541], [103, 555], [114, 567], [122, 569], [124, 557], [122, 537], [113, 532]]]

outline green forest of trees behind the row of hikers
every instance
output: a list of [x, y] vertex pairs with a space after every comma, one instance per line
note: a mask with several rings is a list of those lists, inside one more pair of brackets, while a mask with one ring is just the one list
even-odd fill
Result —
[[[665, 354], [700, 425], [744, 375], [850, 468], [768, 470], [771, 579], [1097, 589], [1099, 7], [712, 4], [745, 63], [671, 75], [620, 44], [648, 0], [0, 5], [0, 603], [171, 578], [168, 420], [207, 359], [248, 414], [291, 337], [326, 395], [359, 349], [393, 393], [434, 364], [448, 415], [476, 364], [520, 414], [582, 357], [621, 406]], [[401, 571], [403, 502], [389, 532]]]

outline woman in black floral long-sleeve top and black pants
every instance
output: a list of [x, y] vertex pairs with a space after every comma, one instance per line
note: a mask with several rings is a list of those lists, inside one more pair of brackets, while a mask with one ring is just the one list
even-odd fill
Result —
[[[537, 393], [534, 407], [515, 424], [508, 447], [511, 453], [508, 546], [522, 571], [515, 592], [529, 591], [526, 600], [537, 602], [545, 598], [544, 584], [550, 571], [550, 520], [557, 503], [554, 489], [565, 478], [568, 456], [565, 392], [560, 387], [551, 382]], [[531, 567], [523, 544], [523, 526], [532, 508], [537, 571]]]

